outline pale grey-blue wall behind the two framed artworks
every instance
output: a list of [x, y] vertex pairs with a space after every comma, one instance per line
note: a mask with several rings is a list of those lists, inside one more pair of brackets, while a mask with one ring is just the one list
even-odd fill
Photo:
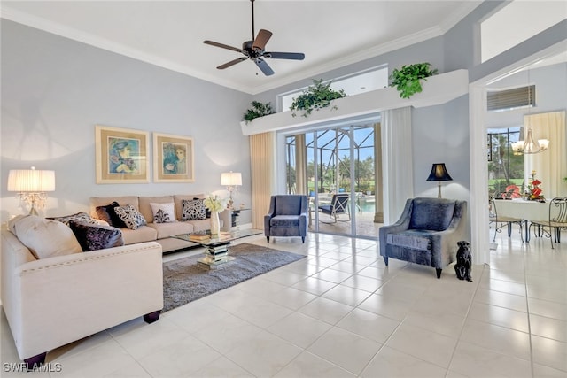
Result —
[[[52, 169], [47, 216], [88, 210], [89, 197], [207, 193], [250, 152], [239, 120], [251, 96], [2, 19], [1, 220], [22, 213], [10, 169]], [[192, 136], [194, 183], [96, 184], [95, 125]], [[151, 134], [150, 134], [151, 135]], [[243, 223], [250, 215], [243, 213]]]

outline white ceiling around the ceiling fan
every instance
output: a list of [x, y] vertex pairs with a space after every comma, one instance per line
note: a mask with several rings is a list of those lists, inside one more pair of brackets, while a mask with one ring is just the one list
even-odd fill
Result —
[[[444, 34], [481, 1], [256, 0], [255, 32], [274, 35], [266, 50], [304, 52], [303, 61], [267, 59], [266, 77], [236, 51], [252, 39], [249, 0], [2, 1], [4, 19], [256, 94], [291, 81]], [[408, 62], [411, 63], [411, 62]]]

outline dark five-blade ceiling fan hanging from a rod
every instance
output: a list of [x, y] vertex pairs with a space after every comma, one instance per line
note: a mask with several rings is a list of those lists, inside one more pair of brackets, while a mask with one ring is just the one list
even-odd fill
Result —
[[266, 51], [264, 50], [266, 47], [266, 43], [268, 43], [270, 37], [272, 36], [272, 32], [266, 29], [260, 29], [256, 38], [254, 38], [254, 0], [250, 0], [252, 3], [252, 40], [253, 41], [246, 41], [242, 43], [242, 49], [238, 49], [237, 47], [232, 47], [223, 43], [213, 42], [213, 41], [203, 41], [203, 43], [210, 44], [212, 46], [221, 47], [222, 49], [233, 50], [244, 54], [244, 57], [236, 58], [234, 60], [230, 60], [229, 62], [218, 66], [217, 68], [223, 70], [228, 68], [229, 66], [234, 66], [237, 63], [244, 62], [246, 59], [252, 59], [256, 66], [260, 68], [260, 71], [264, 73], [266, 76], [274, 74], [274, 70], [264, 58], [272, 58], [272, 59], [294, 59], [294, 60], [303, 60], [305, 58], [305, 54], [301, 52], [274, 52], [274, 51]]

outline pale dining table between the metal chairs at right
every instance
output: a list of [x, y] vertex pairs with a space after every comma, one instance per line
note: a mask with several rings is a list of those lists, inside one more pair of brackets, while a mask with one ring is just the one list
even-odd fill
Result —
[[[496, 211], [501, 217], [514, 217], [524, 220], [525, 241], [530, 242], [529, 222], [533, 220], [549, 219], [549, 203], [540, 201], [529, 201], [523, 198], [497, 199], [494, 201]], [[540, 229], [536, 235], [541, 235]]]

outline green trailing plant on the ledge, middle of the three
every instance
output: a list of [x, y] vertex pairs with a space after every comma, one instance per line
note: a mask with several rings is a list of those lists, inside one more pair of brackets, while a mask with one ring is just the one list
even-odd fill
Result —
[[[331, 89], [331, 82], [332, 81], [323, 84], [322, 79], [314, 79], [313, 85], [307, 87], [297, 98], [293, 98], [293, 103], [291, 103], [290, 107], [290, 110], [293, 111], [291, 115], [295, 117], [297, 115], [295, 111], [304, 111], [302, 116], [307, 117], [314, 109], [318, 111], [321, 108], [329, 106], [332, 100], [346, 97], [346, 93], [343, 89]], [[337, 105], [332, 106], [331, 109], [336, 110]]]

